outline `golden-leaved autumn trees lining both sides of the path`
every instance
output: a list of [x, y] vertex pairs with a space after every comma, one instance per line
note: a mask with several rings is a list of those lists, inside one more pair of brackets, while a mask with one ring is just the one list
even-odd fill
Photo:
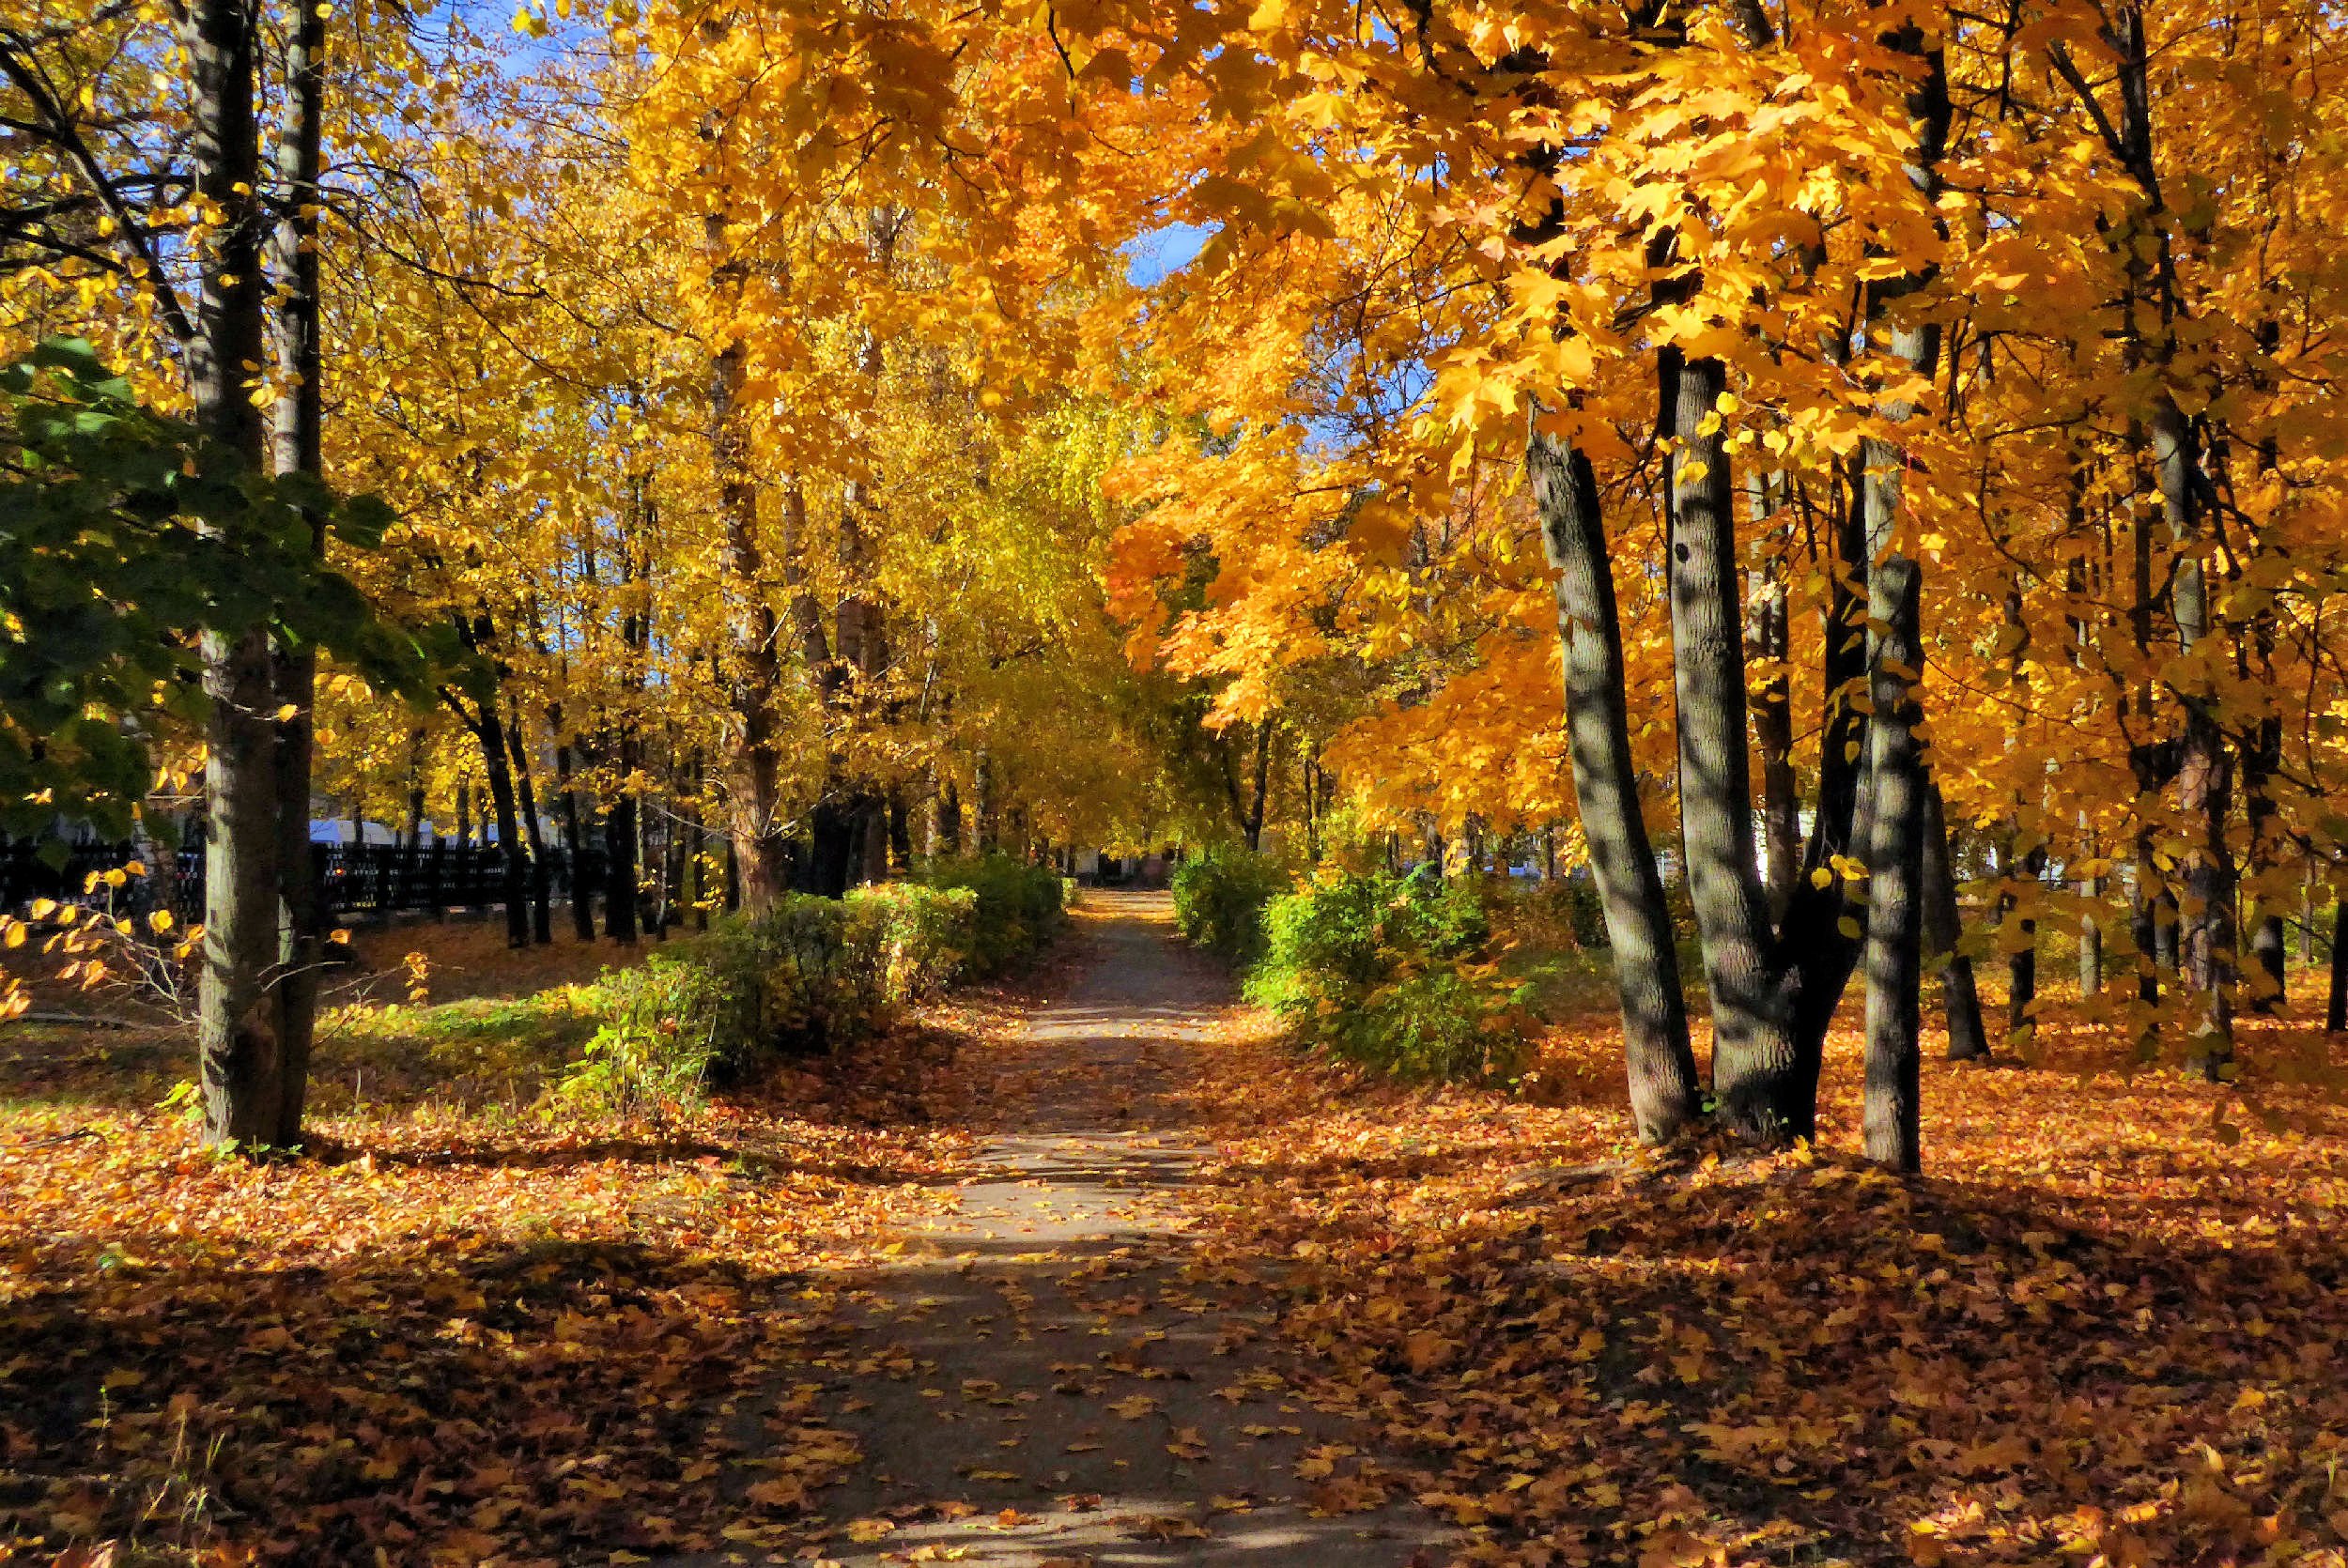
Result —
[[348, 570], [463, 655], [420, 723], [207, 646], [214, 1136], [298, 1131], [315, 784], [425, 753], [517, 878], [662, 812], [751, 906], [916, 822], [1576, 822], [1651, 1138], [1676, 840], [1719, 1113], [1806, 1136], [1862, 976], [1902, 1167], [1989, 843], [1996, 941], [2233, 1073], [2339, 861], [2327, 7], [521, 21], [5, 33], [5, 329], [383, 495]]

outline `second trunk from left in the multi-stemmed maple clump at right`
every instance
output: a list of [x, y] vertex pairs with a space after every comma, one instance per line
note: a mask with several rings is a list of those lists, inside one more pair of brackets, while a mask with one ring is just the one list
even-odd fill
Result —
[[1754, 859], [1735, 488], [1721, 420], [1712, 418], [1728, 373], [1719, 359], [1691, 359], [1676, 380], [1669, 575], [1679, 819], [1712, 988], [1712, 1094], [1740, 1134], [1784, 1143], [1810, 1136], [1817, 1115], [1789, 995], [1770, 962]]

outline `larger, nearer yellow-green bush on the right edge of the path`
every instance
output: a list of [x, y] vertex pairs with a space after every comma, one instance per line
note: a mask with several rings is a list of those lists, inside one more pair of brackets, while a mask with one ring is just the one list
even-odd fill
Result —
[[1529, 988], [1505, 979], [1477, 878], [1374, 871], [1275, 899], [1247, 995], [1334, 1056], [1491, 1082], [1524, 1066]]

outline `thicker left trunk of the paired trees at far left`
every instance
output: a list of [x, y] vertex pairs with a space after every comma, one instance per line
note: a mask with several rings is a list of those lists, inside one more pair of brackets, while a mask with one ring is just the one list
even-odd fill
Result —
[[[261, 418], [247, 394], [247, 366], [268, 357], [254, 21], [239, 0], [193, 0], [181, 45], [193, 75], [195, 195], [221, 214], [197, 251], [197, 331], [188, 343], [195, 423], [258, 472]], [[211, 699], [197, 991], [204, 1141], [261, 1148], [277, 1143], [286, 1115], [279, 1016], [270, 995], [279, 962], [282, 819], [268, 634], [207, 634], [202, 662]]]

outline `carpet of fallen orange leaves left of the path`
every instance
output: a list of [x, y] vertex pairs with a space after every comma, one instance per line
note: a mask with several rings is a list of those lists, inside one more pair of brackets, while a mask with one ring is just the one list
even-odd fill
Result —
[[967, 1150], [935, 1028], [657, 1127], [380, 1068], [362, 1101], [340, 1040], [324, 1157], [258, 1167], [117, 1091], [183, 1042], [5, 1045], [0, 1561], [791, 1547], [859, 1458], [810, 1371], [831, 1275]]

